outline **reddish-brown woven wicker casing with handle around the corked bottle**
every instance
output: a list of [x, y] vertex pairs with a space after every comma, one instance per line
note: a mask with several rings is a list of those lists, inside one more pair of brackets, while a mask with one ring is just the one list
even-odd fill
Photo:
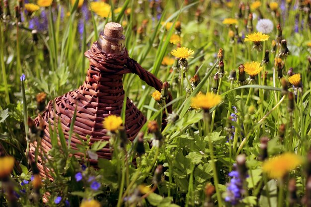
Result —
[[[111, 23], [108, 23], [109, 25]], [[115, 26], [115, 23], [112, 23]], [[113, 53], [105, 53], [105, 47], [110, 48], [111, 45], [118, 44], [118, 38], [124, 40], [124, 36], [118, 36], [113, 32], [107, 36], [107, 25], [105, 32], [101, 33], [101, 41], [93, 43], [90, 50], [85, 52], [85, 56], [89, 59], [89, 69], [87, 70], [86, 79], [77, 90], [68, 92], [63, 96], [57, 97], [50, 101], [43, 114], [35, 120], [39, 125], [39, 120], [44, 122], [44, 137], [42, 138], [42, 149], [47, 153], [52, 145], [49, 132], [49, 123], [52, 130], [58, 122], [61, 123], [65, 138], [69, 138], [69, 131], [72, 118], [77, 107], [77, 118], [74, 126], [74, 134], [71, 139], [71, 147], [77, 149], [76, 144], [80, 143], [75, 133], [80, 138], [86, 140], [86, 136], [90, 136], [90, 145], [95, 141], [109, 140], [106, 135], [107, 130], [103, 129], [102, 121], [105, 117], [115, 114], [121, 114], [124, 90], [122, 85], [122, 77], [125, 73], [136, 73], [139, 77], [146, 81], [147, 84], [161, 90], [162, 83], [153, 74], [143, 69], [135, 60], [128, 57], [128, 52], [123, 47], [119, 51], [109, 51]], [[111, 26], [111, 25], [110, 25]], [[117, 24], [118, 27], [119, 24]], [[122, 27], [121, 27], [122, 28]], [[121, 31], [122, 35], [122, 31]], [[106, 42], [102, 42], [102, 40]], [[108, 41], [108, 43], [107, 43]], [[122, 43], [122, 42], [121, 42]], [[110, 45], [109, 45], [110, 44]], [[118, 46], [118, 45], [117, 45]], [[120, 45], [119, 45], [120, 46]], [[108, 48], [109, 48], [108, 47]], [[133, 102], [127, 98], [125, 129], [129, 140], [133, 140], [144, 123], [146, 118], [136, 108]], [[57, 128], [57, 125], [56, 125]], [[37, 143], [31, 145], [31, 150], [34, 152]], [[111, 151], [108, 148], [103, 148], [97, 152], [99, 158], [111, 158]], [[76, 156], [79, 156], [76, 154]], [[82, 155], [84, 156], [84, 155]], [[48, 169], [44, 169], [41, 157], [38, 158], [38, 167], [42, 176], [49, 176]], [[96, 165], [95, 160], [90, 160], [91, 164]], [[50, 176], [49, 176], [50, 177]]]

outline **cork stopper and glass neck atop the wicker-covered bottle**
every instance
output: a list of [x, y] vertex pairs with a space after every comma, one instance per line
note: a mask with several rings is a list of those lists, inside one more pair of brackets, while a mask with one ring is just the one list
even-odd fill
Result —
[[124, 50], [124, 45], [123, 27], [115, 22], [107, 23], [98, 37], [97, 47], [104, 53], [118, 54]]

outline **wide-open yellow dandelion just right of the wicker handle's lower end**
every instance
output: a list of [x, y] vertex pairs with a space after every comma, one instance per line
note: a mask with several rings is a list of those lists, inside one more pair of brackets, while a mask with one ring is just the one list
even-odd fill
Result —
[[206, 95], [198, 94], [196, 97], [191, 98], [191, 108], [201, 108], [210, 110], [222, 102], [222, 97], [215, 93], [208, 92]]

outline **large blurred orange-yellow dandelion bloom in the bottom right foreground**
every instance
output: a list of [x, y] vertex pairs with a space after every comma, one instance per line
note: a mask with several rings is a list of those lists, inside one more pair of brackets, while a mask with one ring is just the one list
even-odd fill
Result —
[[270, 178], [283, 178], [289, 171], [294, 170], [302, 162], [301, 158], [294, 153], [284, 153], [265, 161], [262, 170]]

